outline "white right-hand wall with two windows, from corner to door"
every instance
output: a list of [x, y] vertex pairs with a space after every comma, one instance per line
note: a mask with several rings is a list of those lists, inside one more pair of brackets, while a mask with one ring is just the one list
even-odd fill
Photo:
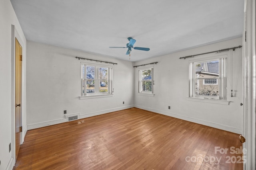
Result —
[[[231, 82], [228, 77], [227, 100], [229, 105], [201, 103], [189, 101], [188, 97], [188, 62], [200, 59], [179, 59], [187, 55], [196, 55], [209, 51], [216, 51], [242, 45], [242, 38], [206, 45], [178, 53], [164, 55], [134, 65], [159, 62], [154, 65], [154, 97], [138, 95], [138, 68], [134, 71], [134, 98], [138, 108], [154, 111], [164, 115], [185, 119], [188, 121], [216, 127], [234, 133], [242, 133], [242, 48], [233, 52], [233, 95], [231, 96]], [[230, 75], [230, 65], [228, 65]], [[168, 109], [171, 106], [171, 109]]]

